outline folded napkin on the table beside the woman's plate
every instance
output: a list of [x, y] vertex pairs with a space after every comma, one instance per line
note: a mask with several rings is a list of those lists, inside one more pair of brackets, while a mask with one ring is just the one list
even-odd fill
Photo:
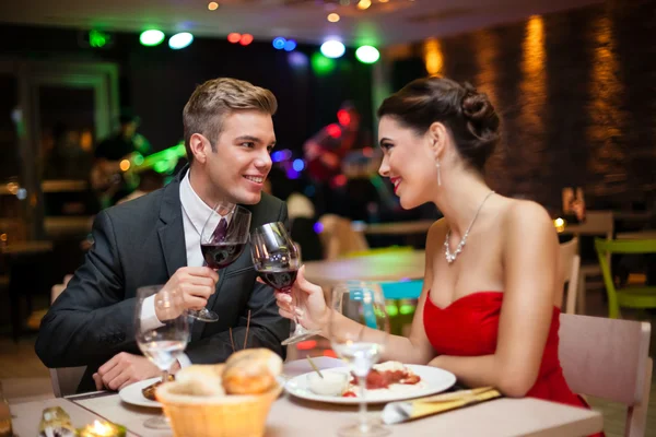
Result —
[[390, 402], [383, 410], [383, 422], [388, 425], [424, 417], [465, 405], [500, 398], [501, 393], [492, 387], [455, 391], [410, 401]]

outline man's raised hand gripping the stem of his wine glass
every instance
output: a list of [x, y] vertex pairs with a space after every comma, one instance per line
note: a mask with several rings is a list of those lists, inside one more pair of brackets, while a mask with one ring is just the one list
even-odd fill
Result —
[[[214, 294], [219, 273], [209, 267], [179, 268], [155, 296], [155, 314], [161, 321], [178, 317], [185, 309], [202, 309]], [[175, 302], [169, 297], [175, 296]]]

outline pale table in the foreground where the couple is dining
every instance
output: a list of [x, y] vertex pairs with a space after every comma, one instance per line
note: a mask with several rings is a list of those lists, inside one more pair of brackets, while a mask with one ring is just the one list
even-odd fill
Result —
[[[317, 357], [319, 368], [342, 366], [341, 361]], [[306, 361], [285, 363], [288, 378], [311, 371]], [[36, 436], [38, 418], [48, 406], [61, 406], [70, 415], [75, 427], [83, 427], [94, 420], [110, 421], [125, 425], [128, 436], [168, 437], [167, 430], [147, 429], [143, 422], [160, 413], [159, 409], [126, 404], [116, 393], [96, 392], [86, 395], [10, 405], [14, 433]], [[379, 416], [382, 405], [370, 405], [372, 416]], [[358, 420], [355, 405], [337, 405], [308, 402], [281, 395], [269, 413], [266, 437], [324, 437], [336, 436], [342, 425]], [[470, 405], [413, 422], [390, 425], [390, 436], [540, 436], [569, 437], [598, 433], [604, 418], [597, 411], [541, 401], [532, 398], [496, 399]]]

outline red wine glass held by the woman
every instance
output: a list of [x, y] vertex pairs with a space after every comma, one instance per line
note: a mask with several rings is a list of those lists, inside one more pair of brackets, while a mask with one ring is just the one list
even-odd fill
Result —
[[[277, 222], [259, 226], [250, 235], [250, 244], [253, 264], [262, 281], [279, 292], [291, 294], [301, 267], [301, 255], [284, 224]], [[295, 310], [294, 303], [292, 307]], [[294, 322], [296, 324], [294, 332], [289, 339], [282, 341], [283, 345], [298, 343], [318, 333], [303, 328], [298, 322], [298, 316], [294, 316]]]

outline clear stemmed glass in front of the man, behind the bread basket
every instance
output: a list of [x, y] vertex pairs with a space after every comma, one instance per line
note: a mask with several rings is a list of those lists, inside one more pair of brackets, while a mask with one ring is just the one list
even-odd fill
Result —
[[[161, 326], [150, 328], [142, 324], [141, 309], [143, 302], [155, 296], [155, 307]], [[134, 307], [134, 330], [137, 345], [160, 370], [162, 381], [166, 381], [168, 369], [179, 354], [187, 347], [189, 341], [188, 312], [183, 307], [183, 297], [178, 292], [165, 291], [163, 285], [150, 285], [137, 290]], [[168, 421], [164, 415], [149, 418], [143, 426], [152, 429], [168, 429]]]

